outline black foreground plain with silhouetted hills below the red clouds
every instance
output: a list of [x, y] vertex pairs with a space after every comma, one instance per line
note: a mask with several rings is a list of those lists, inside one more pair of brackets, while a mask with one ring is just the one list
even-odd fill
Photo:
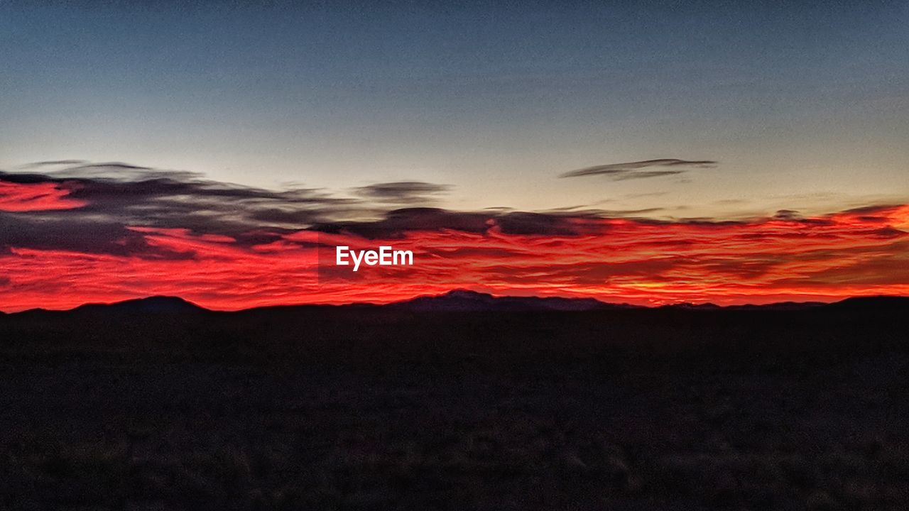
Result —
[[909, 507], [906, 300], [457, 308], [0, 316], [0, 508]]

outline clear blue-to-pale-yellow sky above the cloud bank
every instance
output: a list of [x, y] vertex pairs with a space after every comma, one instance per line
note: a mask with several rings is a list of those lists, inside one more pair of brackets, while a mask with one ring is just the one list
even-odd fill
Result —
[[[82, 159], [446, 207], [909, 197], [909, 3], [0, 3], [0, 167]], [[683, 175], [557, 176], [654, 158]]]

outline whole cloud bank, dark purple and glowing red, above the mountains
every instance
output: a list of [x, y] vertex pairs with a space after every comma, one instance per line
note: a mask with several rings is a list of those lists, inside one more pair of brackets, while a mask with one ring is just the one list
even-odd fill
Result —
[[[2, 310], [149, 295], [226, 309], [388, 302], [452, 288], [638, 304], [909, 295], [909, 205], [670, 222], [400, 208], [447, 189], [420, 182], [337, 196], [53, 165], [64, 168], [0, 173]], [[393, 245], [415, 265], [352, 274], [331, 265], [335, 245]]]

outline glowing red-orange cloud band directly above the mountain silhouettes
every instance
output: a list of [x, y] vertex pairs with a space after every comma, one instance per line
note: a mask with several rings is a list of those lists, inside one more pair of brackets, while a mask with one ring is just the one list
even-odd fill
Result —
[[[344, 229], [304, 230], [273, 233], [258, 245], [186, 229], [132, 227], [143, 246], [185, 256], [11, 246], [0, 254], [8, 279], [0, 283], [0, 304], [12, 311], [173, 295], [238, 309], [381, 303], [453, 288], [644, 305], [909, 295], [909, 205], [753, 222], [561, 222], [555, 234], [520, 234], [491, 218], [483, 231], [405, 230], [382, 239]], [[353, 273], [334, 266], [335, 245], [392, 245], [412, 250], [415, 264]]]

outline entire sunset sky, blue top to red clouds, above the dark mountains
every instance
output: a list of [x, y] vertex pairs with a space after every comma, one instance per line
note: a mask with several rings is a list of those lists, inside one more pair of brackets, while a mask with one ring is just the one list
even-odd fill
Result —
[[[909, 2], [5, 0], [0, 310], [909, 294], [906, 26]], [[417, 265], [316, 275], [314, 246], [383, 240]]]

